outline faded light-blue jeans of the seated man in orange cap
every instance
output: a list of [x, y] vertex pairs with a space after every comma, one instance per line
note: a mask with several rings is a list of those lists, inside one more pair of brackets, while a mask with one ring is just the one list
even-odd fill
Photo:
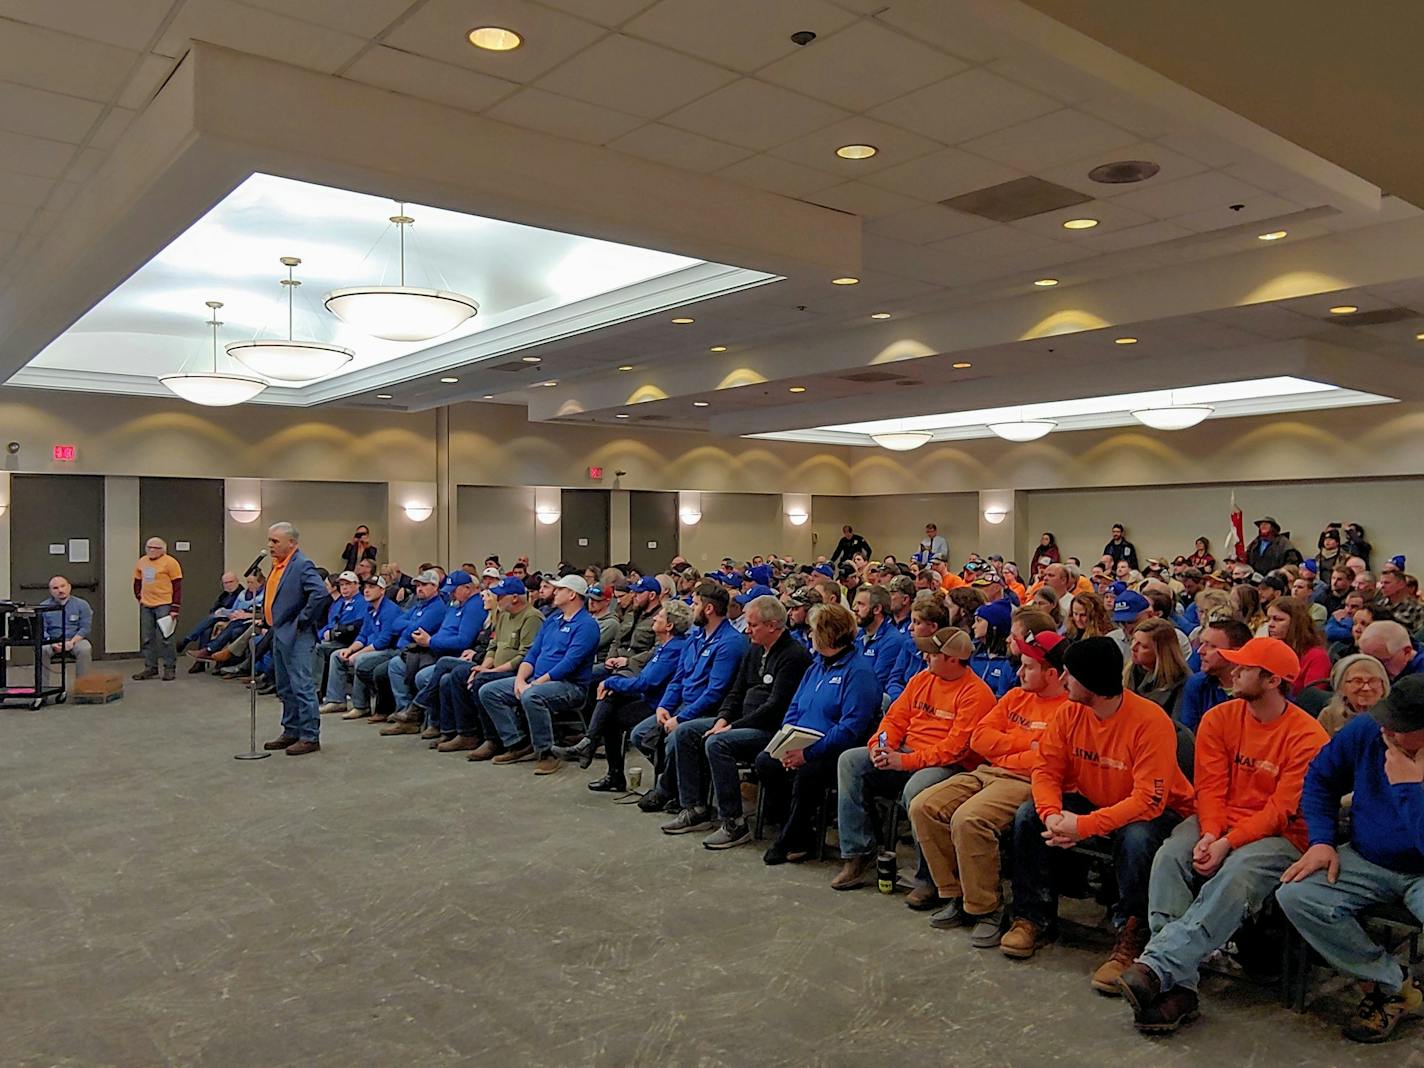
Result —
[[1286, 839], [1259, 839], [1233, 849], [1216, 874], [1203, 880], [1192, 867], [1199, 837], [1202, 826], [1189, 816], [1152, 860], [1152, 941], [1138, 960], [1156, 973], [1162, 990], [1196, 990], [1202, 961], [1222, 948], [1243, 920], [1260, 911], [1280, 886], [1280, 873], [1300, 859], [1300, 850]]

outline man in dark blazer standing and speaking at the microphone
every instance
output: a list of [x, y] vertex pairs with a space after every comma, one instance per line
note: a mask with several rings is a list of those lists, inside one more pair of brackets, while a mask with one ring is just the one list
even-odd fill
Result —
[[326, 584], [313, 564], [296, 547], [298, 533], [290, 523], [268, 527], [268, 575], [262, 614], [272, 642], [272, 671], [276, 695], [282, 699], [282, 733], [263, 749], [285, 749], [288, 756], [303, 756], [322, 748], [322, 718], [316, 711], [316, 684], [312, 681], [312, 656], [316, 628], [325, 614]]

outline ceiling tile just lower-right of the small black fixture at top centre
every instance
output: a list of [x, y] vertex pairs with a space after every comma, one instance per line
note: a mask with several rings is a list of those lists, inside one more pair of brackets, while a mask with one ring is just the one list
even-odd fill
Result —
[[860, 21], [765, 67], [760, 77], [850, 111], [866, 111], [965, 66], [883, 26]]

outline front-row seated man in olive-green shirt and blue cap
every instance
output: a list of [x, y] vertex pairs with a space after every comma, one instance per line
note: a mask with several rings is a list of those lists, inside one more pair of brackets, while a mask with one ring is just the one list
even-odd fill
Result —
[[480, 706], [480, 691], [497, 679], [513, 678], [534, 645], [544, 617], [530, 604], [530, 591], [517, 578], [490, 587], [494, 598], [494, 632], [484, 658], [456, 664], [440, 679], [441, 753], [470, 750], [471, 760], [488, 760], [498, 752], [493, 725]]

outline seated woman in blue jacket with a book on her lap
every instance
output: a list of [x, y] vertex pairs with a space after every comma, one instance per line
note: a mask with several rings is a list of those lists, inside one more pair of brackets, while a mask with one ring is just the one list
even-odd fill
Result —
[[864, 745], [880, 712], [880, 681], [856, 649], [856, 617], [839, 604], [816, 605], [810, 629], [815, 655], [783, 723], [816, 731], [822, 738], [780, 758], [765, 750], [756, 756], [763, 812], [780, 824], [762, 856], [766, 864], [799, 863], [810, 856], [816, 815], [836, 782], [837, 762]]

